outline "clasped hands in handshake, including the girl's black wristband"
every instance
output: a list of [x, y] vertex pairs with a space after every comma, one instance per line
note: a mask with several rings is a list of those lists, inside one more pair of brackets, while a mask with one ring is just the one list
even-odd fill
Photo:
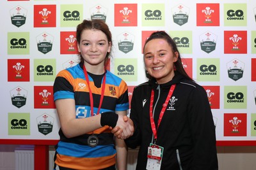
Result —
[[111, 132], [119, 139], [129, 138], [134, 132], [134, 124], [131, 118], [117, 115], [112, 111], [101, 114], [100, 125], [109, 125]]

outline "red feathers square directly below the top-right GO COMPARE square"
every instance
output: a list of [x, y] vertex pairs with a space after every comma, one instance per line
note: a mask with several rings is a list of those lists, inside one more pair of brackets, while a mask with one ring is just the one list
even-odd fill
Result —
[[247, 53], [247, 31], [224, 31], [224, 53]]

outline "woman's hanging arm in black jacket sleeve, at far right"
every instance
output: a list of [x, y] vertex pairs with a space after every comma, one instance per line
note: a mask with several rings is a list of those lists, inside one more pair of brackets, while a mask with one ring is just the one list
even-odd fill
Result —
[[[196, 100], [195, 100], [196, 99]], [[218, 169], [215, 127], [205, 90], [197, 87], [189, 97], [189, 120], [194, 143], [191, 169]]]

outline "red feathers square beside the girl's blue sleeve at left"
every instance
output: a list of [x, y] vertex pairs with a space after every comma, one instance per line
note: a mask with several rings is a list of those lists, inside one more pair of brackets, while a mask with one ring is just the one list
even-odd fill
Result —
[[34, 86], [34, 108], [54, 109], [52, 86]]

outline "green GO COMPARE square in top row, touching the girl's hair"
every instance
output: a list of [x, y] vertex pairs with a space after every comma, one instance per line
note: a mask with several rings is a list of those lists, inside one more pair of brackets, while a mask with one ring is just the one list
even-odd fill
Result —
[[60, 26], [76, 27], [83, 22], [83, 4], [61, 4]]

